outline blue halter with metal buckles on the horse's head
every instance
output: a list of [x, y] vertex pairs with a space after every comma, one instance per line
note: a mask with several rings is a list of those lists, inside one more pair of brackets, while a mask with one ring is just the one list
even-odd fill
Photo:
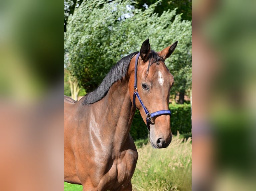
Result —
[[147, 108], [145, 107], [145, 105], [143, 104], [140, 96], [139, 96], [139, 93], [138, 93], [138, 90], [137, 90], [137, 66], [138, 66], [138, 59], [139, 59], [139, 56], [140, 56], [140, 53], [137, 54], [136, 56], [136, 60], [135, 60], [135, 69], [134, 69], [134, 92], [133, 92], [133, 105], [136, 107], [136, 104], [135, 104], [135, 99], [136, 99], [136, 96], [137, 98], [139, 99], [140, 101], [140, 104], [142, 105], [145, 113], [146, 113], [146, 121], [147, 121], [147, 128], [148, 130], [150, 131], [150, 128], [149, 128], [149, 122], [151, 120], [153, 120], [153, 117], [155, 116], [158, 116], [158, 115], [163, 115], [163, 114], [167, 114], [167, 115], [171, 115], [171, 111], [170, 110], [159, 110], [159, 111], [156, 111], [156, 112], [153, 112], [153, 113], [149, 113]]

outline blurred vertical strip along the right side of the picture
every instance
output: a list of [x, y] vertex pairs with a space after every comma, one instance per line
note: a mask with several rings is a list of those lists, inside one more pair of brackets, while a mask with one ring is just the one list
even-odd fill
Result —
[[195, 190], [255, 190], [255, 6], [193, 1]]

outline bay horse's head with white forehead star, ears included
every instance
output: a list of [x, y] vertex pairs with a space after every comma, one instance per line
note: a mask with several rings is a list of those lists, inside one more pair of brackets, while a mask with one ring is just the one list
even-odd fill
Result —
[[149, 39], [144, 41], [137, 57], [137, 75], [130, 77], [134, 79], [129, 82], [130, 97], [150, 130], [150, 142], [154, 148], [167, 147], [172, 138], [168, 102], [174, 78], [164, 61], [176, 45], [177, 41], [160, 52], [154, 52], [150, 50]]

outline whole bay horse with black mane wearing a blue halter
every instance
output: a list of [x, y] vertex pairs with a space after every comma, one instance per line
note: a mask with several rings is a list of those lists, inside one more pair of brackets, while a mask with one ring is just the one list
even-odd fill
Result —
[[138, 152], [130, 135], [136, 108], [153, 148], [172, 138], [168, 101], [174, 78], [164, 61], [177, 41], [160, 52], [149, 39], [122, 58], [99, 87], [79, 101], [64, 96], [64, 181], [83, 191], [131, 191]]

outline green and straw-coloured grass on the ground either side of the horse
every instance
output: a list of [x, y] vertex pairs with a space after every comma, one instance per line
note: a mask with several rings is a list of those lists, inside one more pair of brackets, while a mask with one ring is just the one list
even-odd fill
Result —
[[[137, 147], [139, 159], [132, 177], [133, 191], [192, 190], [191, 137], [173, 136], [165, 149], [153, 149], [150, 144]], [[64, 183], [65, 191], [82, 191], [81, 185]]]

